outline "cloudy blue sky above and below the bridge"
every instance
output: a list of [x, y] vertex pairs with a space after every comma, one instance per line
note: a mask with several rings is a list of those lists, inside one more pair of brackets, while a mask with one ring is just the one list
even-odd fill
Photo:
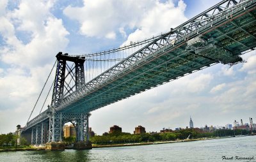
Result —
[[[218, 2], [1, 0], [0, 133], [26, 124], [58, 52], [88, 54], [150, 38]], [[90, 127], [101, 135], [114, 124], [129, 133], [139, 125], [146, 131], [186, 128], [190, 116], [198, 128], [256, 121], [256, 52], [242, 57], [247, 63], [217, 64], [95, 110]]]

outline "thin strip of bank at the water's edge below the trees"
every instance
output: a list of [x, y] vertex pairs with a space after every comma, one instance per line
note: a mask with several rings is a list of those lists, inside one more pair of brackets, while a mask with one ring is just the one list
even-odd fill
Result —
[[[223, 137], [214, 137], [214, 138], [196, 138], [196, 139], [186, 139], [186, 140], [175, 140], [175, 141], [159, 141], [159, 142], [143, 142], [143, 143], [130, 143], [130, 144], [113, 144], [113, 145], [93, 145], [92, 148], [106, 148], [106, 147], [127, 147], [127, 146], [138, 146], [138, 145], [159, 145], [159, 144], [170, 144], [177, 142], [193, 142], [200, 140], [216, 140], [221, 138], [234, 138], [241, 136], [223, 136]], [[66, 147], [65, 149], [73, 149], [72, 147]], [[0, 149], [0, 152], [14, 152], [14, 151], [45, 151], [45, 147], [25, 147], [25, 148], [9, 148], [9, 149]]]

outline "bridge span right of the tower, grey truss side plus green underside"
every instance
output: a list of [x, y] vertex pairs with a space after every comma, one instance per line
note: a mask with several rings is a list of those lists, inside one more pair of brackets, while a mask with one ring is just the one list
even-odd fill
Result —
[[[84, 84], [81, 89], [64, 98], [57, 110], [76, 112], [77, 108], [79, 110], [81, 110], [80, 107], [85, 108], [84, 105], [86, 105], [88, 111], [95, 110], [96, 108], [127, 98], [145, 89], [155, 87], [177, 77], [182, 77], [186, 73], [200, 70], [205, 66], [215, 63], [232, 65], [241, 62], [242, 59], [239, 57], [241, 52], [250, 50], [256, 46], [255, 17], [252, 16], [255, 14], [252, 14], [252, 12], [255, 12], [255, 2], [255, 0], [239, 2], [223, 1], [217, 4], [188, 22], [172, 29], [170, 33], [163, 34], [147, 46], [127, 57], [124, 61], [121, 61], [111, 69]], [[233, 24], [234, 21], [236, 21], [236, 25]], [[243, 29], [245, 29], [241, 30], [237, 26], [243, 26]], [[237, 33], [237, 30], [240, 30], [239, 33]], [[220, 31], [224, 33], [230, 31], [231, 33], [229, 34], [232, 34], [233, 39], [230, 39], [229, 35], [218, 38], [221, 34]], [[204, 41], [205, 43], [202, 43], [204, 47], [195, 50], [186, 50], [186, 47], [189, 48], [189, 46], [196, 45], [196, 39]], [[194, 43], [192, 42], [193, 40]], [[183, 52], [180, 52], [180, 50]], [[173, 54], [178, 55], [177, 57], [173, 57]], [[191, 57], [191, 54], [194, 56]], [[188, 61], [182, 61], [178, 57], [187, 58]], [[165, 62], [163, 62], [164, 60]], [[161, 63], [161, 66], [159, 63]], [[201, 65], [195, 66], [193, 63]], [[150, 67], [154, 71], [162, 71], [156, 74], [154, 78], [154, 80], [159, 80], [159, 82], [148, 86], [147, 84], [143, 84], [143, 82], [140, 85], [138, 85], [139, 83], [132, 82], [132, 80], [140, 79], [138, 78], [138, 74], [154, 74], [154, 71], [150, 70], [147, 70], [145, 73], [142, 72], [146, 66], [151, 65], [154, 65]], [[172, 73], [170, 73], [171, 71]], [[165, 77], [166, 79], [157, 77], [157, 75], [159, 77], [163, 76], [163, 73], [169, 73]], [[121, 82], [121, 80], [127, 79], [131, 82], [127, 82], [126, 85], [131, 85], [130, 89], [134, 89], [134, 92], [131, 92], [129, 95], [119, 94], [119, 97], [115, 98], [109, 97], [105, 101], [102, 99], [104, 103], [99, 103], [99, 98], [109, 96], [109, 92], [114, 93], [113, 91], [120, 91], [121, 85], [116, 84], [124, 85], [124, 82]], [[147, 77], [143, 79], [148, 80]], [[116, 89], [114, 87], [115, 85]], [[97, 98], [97, 101], [93, 98]]]

